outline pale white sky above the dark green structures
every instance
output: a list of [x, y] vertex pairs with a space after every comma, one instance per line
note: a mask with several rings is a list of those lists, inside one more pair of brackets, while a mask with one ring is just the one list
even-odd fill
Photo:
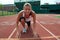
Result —
[[[56, 4], [56, 2], [60, 2], [60, 0], [41, 0], [41, 4]], [[0, 0], [0, 4], [14, 4], [14, 0]]]

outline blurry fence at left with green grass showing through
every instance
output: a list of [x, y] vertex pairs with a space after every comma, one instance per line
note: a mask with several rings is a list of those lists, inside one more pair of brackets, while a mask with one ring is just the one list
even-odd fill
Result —
[[16, 7], [11, 5], [2, 5], [0, 7], [0, 16], [15, 15], [17, 14]]

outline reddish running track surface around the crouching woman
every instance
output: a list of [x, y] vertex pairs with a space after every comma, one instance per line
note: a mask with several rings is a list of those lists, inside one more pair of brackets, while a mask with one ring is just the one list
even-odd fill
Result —
[[[37, 14], [36, 32], [38, 33], [39, 38], [41, 40], [60, 39], [60, 18], [55, 18], [55, 15], [57, 14]], [[0, 17], [0, 38], [3, 38], [3, 40], [4, 38], [8, 39], [12, 31], [15, 29], [16, 17], [17, 15]], [[45, 27], [53, 35], [49, 33], [47, 30], [45, 30], [43, 27]], [[21, 24], [19, 25], [19, 29], [22, 29]], [[24, 37], [26, 38], [27, 34]], [[11, 38], [16, 38], [16, 31], [13, 33]], [[30, 37], [30, 39], [32, 39], [32, 37]]]

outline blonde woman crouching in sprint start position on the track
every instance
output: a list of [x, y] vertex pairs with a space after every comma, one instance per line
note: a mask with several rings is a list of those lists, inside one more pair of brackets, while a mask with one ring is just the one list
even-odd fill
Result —
[[27, 30], [25, 28], [25, 23], [27, 23], [28, 29], [29, 29], [31, 27], [31, 18], [33, 18], [33, 27], [35, 27], [36, 13], [32, 10], [31, 4], [25, 3], [23, 6], [23, 10], [21, 10], [18, 13], [17, 22], [16, 22], [17, 23], [17, 29], [18, 29], [18, 24], [20, 22], [23, 26], [22, 32], [25, 33]]

